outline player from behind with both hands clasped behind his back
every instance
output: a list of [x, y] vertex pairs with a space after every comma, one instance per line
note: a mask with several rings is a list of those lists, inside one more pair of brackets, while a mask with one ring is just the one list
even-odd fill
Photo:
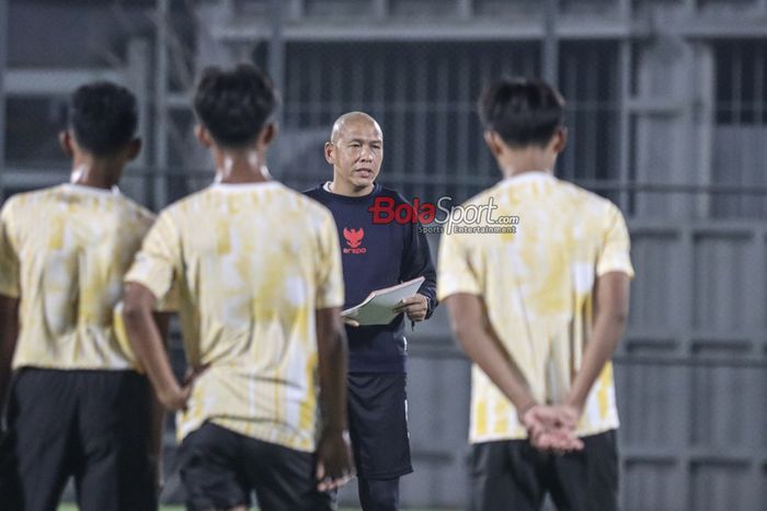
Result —
[[[620, 211], [558, 180], [564, 102], [501, 80], [480, 100], [503, 181], [443, 236], [437, 293], [472, 367], [471, 509], [618, 509], [610, 359], [633, 270]], [[471, 215], [466, 215], [471, 216]]]

